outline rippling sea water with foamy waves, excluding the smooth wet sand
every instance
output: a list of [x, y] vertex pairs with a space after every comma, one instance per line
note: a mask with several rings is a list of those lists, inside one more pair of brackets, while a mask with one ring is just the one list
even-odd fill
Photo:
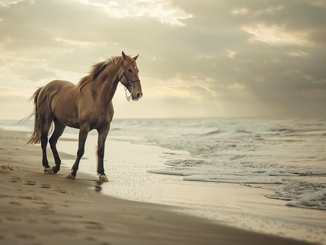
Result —
[[[0, 125], [10, 129], [15, 122]], [[14, 129], [30, 130], [32, 124]], [[90, 135], [95, 141], [96, 132]], [[146, 172], [186, 181], [268, 185], [274, 194], [267, 198], [326, 210], [326, 119], [114, 119], [109, 139], [172, 150]]]

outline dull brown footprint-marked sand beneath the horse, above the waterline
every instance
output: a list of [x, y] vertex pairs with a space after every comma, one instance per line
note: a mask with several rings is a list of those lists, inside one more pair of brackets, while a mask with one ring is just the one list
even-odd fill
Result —
[[0, 130], [0, 244], [307, 244], [111, 198], [94, 191], [93, 176], [66, 179], [67, 168], [45, 175], [41, 149], [27, 139]]

